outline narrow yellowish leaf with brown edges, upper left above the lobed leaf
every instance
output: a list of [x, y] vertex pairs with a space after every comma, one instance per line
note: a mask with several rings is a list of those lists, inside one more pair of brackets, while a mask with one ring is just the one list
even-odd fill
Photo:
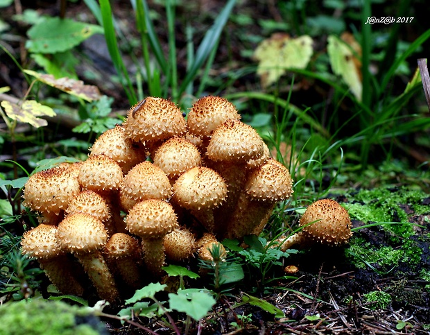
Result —
[[98, 87], [94, 85], [85, 85], [81, 80], [75, 80], [67, 77], [55, 79], [51, 74], [40, 74], [32, 70], [24, 70], [26, 74], [37, 78], [46, 85], [61, 89], [62, 91], [83, 98], [86, 101], [98, 100], [101, 98]]

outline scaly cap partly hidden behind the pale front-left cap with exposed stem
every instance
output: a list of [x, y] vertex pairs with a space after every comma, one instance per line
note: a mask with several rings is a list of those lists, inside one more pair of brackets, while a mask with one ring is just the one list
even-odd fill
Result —
[[103, 196], [89, 189], [83, 190], [71, 200], [66, 214], [72, 213], [90, 214], [101, 222], [108, 221], [112, 216]]

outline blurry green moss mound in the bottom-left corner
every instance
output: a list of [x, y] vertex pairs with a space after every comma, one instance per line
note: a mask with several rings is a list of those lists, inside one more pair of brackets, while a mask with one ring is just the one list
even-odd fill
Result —
[[[86, 318], [95, 319], [95, 327], [82, 323]], [[0, 325], [0, 335], [97, 335], [104, 329], [88, 309], [42, 299], [3, 304]]]

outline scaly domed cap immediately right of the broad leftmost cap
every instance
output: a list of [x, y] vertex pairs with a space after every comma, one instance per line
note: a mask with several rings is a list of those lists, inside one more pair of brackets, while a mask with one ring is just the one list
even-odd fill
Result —
[[92, 191], [119, 189], [123, 171], [117, 162], [106, 155], [94, 155], [83, 162], [78, 175], [79, 183]]

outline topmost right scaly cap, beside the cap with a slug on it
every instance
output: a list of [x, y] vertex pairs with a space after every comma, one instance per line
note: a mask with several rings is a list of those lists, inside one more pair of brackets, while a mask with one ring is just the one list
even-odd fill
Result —
[[205, 138], [210, 137], [221, 123], [229, 119], [241, 119], [230, 101], [220, 96], [204, 96], [193, 104], [188, 113], [187, 124], [192, 135]]

